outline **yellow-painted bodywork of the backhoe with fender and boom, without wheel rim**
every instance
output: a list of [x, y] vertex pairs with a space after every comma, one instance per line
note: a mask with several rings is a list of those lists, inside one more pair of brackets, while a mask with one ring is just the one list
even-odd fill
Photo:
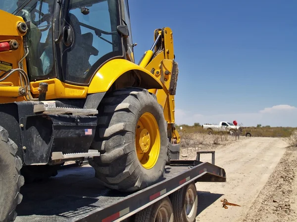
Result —
[[[0, 51], [0, 76], [5, 74], [10, 69], [22, 68], [27, 73], [26, 60], [23, 59], [25, 55], [23, 36], [26, 32], [20, 32], [18, 25], [24, 20], [12, 15], [8, 12], [0, 10], [0, 17], [5, 18], [0, 20], [0, 43], [10, 43], [16, 41], [18, 43], [17, 49], [9, 49]], [[155, 33], [161, 38], [164, 43], [164, 51], [155, 53], [153, 50], [148, 50], [142, 58], [139, 65], [128, 59], [115, 58], [103, 64], [98, 71], [93, 75], [88, 86], [80, 86], [69, 83], [64, 83], [57, 78], [51, 78], [40, 81], [31, 81], [29, 84], [28, 94], [32, 98], [37, 99], [39, 95], [39, 84], [41, 82], [48, 84], [47, 100], [52, 99], [67, 99], [67, 98], [86, 98], [88, 94], [97, 92], [106, 92], [112, 85], [126, 85], [134, 80], [130, 79], [128, 74], [133, 72], [139, 80], [141, 80], [140, 87], [149, 89], [157, 97], [158, 103], [162, 105], [164, 110], [164, 117], [168, 124], [175, 123], [175, 101], [174, 95], [169, 93], [169, 85], [172, 67], [174, 63], [174, 48], [173, 35], [170, 28], [163, 28], [155, 30]], [[157, 36], [154, 36], [156, 41]], [[29, 49], [30, 50], [30, 49]], [[130, 54], [134, 60], [133, 52]], [[21, 67], [19, 67], [19, 62]], [[152, 70], [154, 70], [152, 72]], [[30, 75], [30, 74], [29, 74]], [[7, 79], [0, 82], [0, 103], [8, 103], [15, 101], [27, 100], [24, 94], [19, 93], [24, 86], [21, 84], [21, 75], [18, 72], [13, 73]], [[24, 81], [24, 80], [23, 80]], [[123, 85], [125, 86], [125, 84]], [[172, 128], [172, 138], [180, 142], [180, 136], [177, 130]]]

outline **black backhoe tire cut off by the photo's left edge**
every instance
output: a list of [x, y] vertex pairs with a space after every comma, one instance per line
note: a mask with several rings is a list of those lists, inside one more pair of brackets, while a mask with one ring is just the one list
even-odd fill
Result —
[[24, 178], [20, 175], [22, 160], [16, 155], [17, 145], [0, 127], [0, 222], [12, 222], [16, 218], [16, 205], [22, 201], [20, 187]]

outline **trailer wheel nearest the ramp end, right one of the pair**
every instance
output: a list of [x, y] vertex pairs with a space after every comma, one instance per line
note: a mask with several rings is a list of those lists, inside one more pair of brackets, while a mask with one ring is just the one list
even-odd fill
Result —
[[175, 191], [171, 195], [175, 222], [195, 222], [197, 216], [198, 197], [195, 183]]

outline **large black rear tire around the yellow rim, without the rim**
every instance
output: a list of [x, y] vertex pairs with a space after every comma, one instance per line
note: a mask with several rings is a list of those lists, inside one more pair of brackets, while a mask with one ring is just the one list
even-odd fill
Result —
[[[150, 169], [143, 167], [136, 152], [138, 120], [146, 112], [155, 118], [160, 135], [159, 155]], [[156, 183], [168, 160], [167, 123], [156, 96], [139, 88], [113, 91], [101, 101], [98, 117], [92, 149], [102, 154], [89, 160], [95, 176], [105, 186], [127, 192]]]

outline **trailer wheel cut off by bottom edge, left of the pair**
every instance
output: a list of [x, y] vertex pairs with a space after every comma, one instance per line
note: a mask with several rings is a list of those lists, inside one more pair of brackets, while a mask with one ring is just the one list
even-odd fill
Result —
[[173, 222], [174, 214], [168, 196], [135, 215], [135, 222]]

